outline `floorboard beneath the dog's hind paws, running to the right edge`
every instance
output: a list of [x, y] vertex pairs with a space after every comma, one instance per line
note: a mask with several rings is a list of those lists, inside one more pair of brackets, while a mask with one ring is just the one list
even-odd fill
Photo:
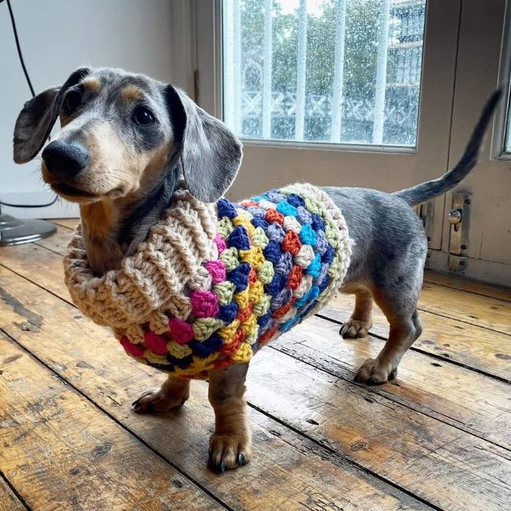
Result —
[[[371, 336], [343, 340], [337, 330], [336, 324], [312, 317], [271, 347], [352, 380], [362, 362], [378, 354], [383, 341]], [[408, 351], [394, 384], [369, 387], [369, 390], [511, 449], [508, 383]]]

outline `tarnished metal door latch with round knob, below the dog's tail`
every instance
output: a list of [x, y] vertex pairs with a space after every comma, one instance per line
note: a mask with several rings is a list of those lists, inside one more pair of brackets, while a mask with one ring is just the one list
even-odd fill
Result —
[[453, 207], [447, 214], [449, 233], [449, 269], [463, 271], [467, 268], [469, 250], [471, 194], [454, 192]]

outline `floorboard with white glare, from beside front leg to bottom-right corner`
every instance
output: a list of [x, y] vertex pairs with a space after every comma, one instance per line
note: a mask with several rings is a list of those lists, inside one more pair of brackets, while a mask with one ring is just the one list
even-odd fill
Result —
[[276, 350], [261, 350], [252, 366], [249, 402], [258, 410], [428, 503], [509, 504], [510, 451]]

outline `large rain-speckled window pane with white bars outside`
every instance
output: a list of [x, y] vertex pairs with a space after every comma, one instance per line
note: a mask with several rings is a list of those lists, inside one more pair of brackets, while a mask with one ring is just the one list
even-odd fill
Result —
[[415, 146], [426, 0], [224, 0], [243, 138]]

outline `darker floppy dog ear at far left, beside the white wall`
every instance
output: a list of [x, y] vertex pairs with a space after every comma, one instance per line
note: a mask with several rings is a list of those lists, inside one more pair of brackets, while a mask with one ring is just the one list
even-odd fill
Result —
[[51, 87], [24, 104], [14, 128], [16, 163], [29, 162], [41, 150], [58, 117], [64, 93], [89, 73], [86, 67], [76, 69], [62, 87]]

